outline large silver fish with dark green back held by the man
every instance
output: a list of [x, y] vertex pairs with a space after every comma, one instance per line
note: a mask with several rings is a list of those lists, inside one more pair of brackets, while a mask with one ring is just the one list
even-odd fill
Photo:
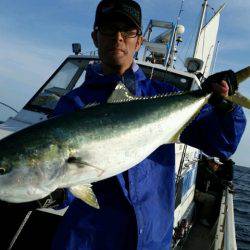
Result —
[[[124, 96], [124, 100], [117, 101]], [[132, 97], [118, 85], [109, 102], [55, 117], [0, 141], [0, 200], [27, 202], [69, 188], [98, 207], [91, 183], [141, 162], [176, 142], [207, 103], [201, 91]]]

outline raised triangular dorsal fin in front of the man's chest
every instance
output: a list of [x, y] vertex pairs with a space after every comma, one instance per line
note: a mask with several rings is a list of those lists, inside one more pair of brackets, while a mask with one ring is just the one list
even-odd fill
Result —
[[125, 102], [137, 99], [128, 88], [122, 83], [118, 83], [108, 99], [108, 103]]

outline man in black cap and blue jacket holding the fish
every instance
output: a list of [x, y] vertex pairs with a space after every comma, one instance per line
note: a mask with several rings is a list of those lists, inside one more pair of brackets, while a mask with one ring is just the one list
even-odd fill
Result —
[[[105, 103], [119, 82], [136, 96], [175, 91], [168, 84], [146, 79], [133, 60], [143, 41], [141, 8], [136, 2], [101, 1], [92, 38], [101, 63], [89, 65], [85, 83], [61, 98], [55, 115], [89, 103]], [[221, 106], [222, 97], [235, 90], [228, 74], [217, 75], [216, 82], [208, 81], [216, 100], [181, 136], [184, 143], [226, 158], [236, 150], [245, 128], [240, 107], [230, 103]], [[227, 81], [222, 80], [224, 76]], [[100, 209], [68, 193], [64, 205], [69, 204], [69, 208], [53, 249], [169, 249], [174, 219], [174, 155], [174, 145], [163, 145], [125, 173], [93, 183]]]

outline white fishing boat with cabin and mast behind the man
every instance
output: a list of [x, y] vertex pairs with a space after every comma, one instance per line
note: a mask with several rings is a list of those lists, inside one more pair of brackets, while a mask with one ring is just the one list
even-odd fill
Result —
[[[207, 22], [205, 16], [208, 1], [203, 1], [193, 56], [186, 59], [185, 70], [178, 70], [176, 57], [185, 30], [179, 23], [183, 2], [175, 22], [149, 21], [143, 34], [144, 44], [135, 55], [135, 60], [147, 77], [170, 83], [186, 91], [199, 89], [202, 81], [212, 72], [216, 60], [219, 20], [225, 5], [222, 5]], [[154, 32], [155, 29], [158, 33]], [[73, 44], [72, 48], [74, 55], [68, 56], [62, 62], [14, 117], [0, 124], [0, 138], [48, 119], [60, 97], [82, 85], [86, 67], [98, 62], [99, 59], [94, 52], [83, 55], [80, 44]], [[228, 188], [223, 191], [219, 216], [212, 229], [197, 223], [197, 204], [194, 195], [201, 152], [181, 143], [175, 144], [175, 152], [176, 203], [172, 249], [237, 249], [232, 192]], [[6, 244], [0, 244], [4, 244], [6, 249], [49, 249], [53, 232], [64, 212], [65, 209], [39, 209], [18, 215], [9, 221], [11, 230], [4, 237]], [[41, 228], [47, 229], [46, 232], [43, 230], [42, 240]], [[30, 241], [31, 238], [33, 241]]]

